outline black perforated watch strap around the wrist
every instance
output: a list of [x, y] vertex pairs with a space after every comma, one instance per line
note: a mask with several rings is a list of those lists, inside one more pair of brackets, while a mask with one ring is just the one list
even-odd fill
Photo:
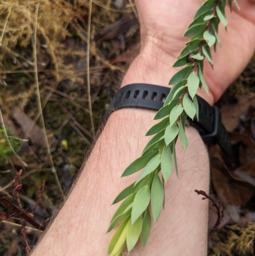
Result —
[[[124, 86], [113, 96], [105, 119], [108, 119], [113, 111], [126, 108], [140, 108], [159, 110], [164, 105], [164, 100], [170, 92], [169, 87], [154, 86], [152, 84], [129, 84]], [[231, 142], [228, 132], [221, 123], [221, 113], [217, 107], [211, 107], [203, 98], [196, 96], [200, 109], [199, 121], [189, 117], [189, 123], [198, 129], [205, 144], [219, 144], [225, 154], [231, 154]]]

